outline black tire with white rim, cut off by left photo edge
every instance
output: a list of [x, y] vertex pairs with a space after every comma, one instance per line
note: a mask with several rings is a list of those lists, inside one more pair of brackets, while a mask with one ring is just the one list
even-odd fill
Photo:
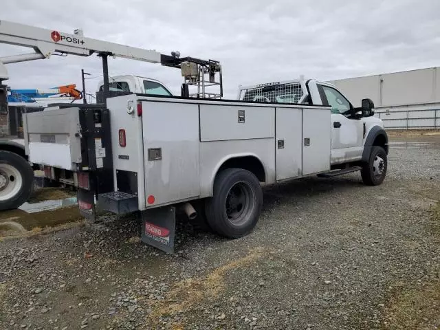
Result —
[[[14, 173], [17, 172], [21, 177], [16, 180]], [[14, 188], [14, 182], [15, 184], [19, 182], [17, 188]], [[28, 161], [17, 153], [0, 151], [0, 185], [3, 185], [0, 186], [0, 210], [18, 208], [29, 199], [32, 193], [34, 170]], [[10, 197], [6, 197], [7, 195]]]

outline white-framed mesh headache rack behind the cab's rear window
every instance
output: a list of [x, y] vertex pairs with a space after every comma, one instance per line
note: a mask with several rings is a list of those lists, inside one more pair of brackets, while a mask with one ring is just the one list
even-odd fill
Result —
[[240, 86], [237, 99], [247, 102], [307, 104], [307, 96], [304, 79], [301, 77], [299, 80]]

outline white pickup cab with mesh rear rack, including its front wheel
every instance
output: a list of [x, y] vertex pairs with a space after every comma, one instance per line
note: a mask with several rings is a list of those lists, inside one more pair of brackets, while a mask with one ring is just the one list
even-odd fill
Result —
[[239, 87], [238, 99], [331, 107], [331, 167], [358, 165], [366, 184], [380, 184], [384, 180], [388, 136], [382, 120], [373, 117], [371, 100], [362, 100], [363, 107], [356, 108], [336, 86], [303, 78]]

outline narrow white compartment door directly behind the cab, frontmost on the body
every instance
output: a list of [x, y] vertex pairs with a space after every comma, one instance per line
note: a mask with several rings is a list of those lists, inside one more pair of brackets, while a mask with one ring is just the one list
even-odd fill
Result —
[[330, 170], [329, 108], [303, 109], [303, 175]]

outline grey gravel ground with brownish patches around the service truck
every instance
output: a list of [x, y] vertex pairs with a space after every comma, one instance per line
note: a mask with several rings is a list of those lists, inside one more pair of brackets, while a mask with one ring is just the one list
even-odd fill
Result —
[[399, 141], [382, 186], [265, 188], [242, 239], [178, 223], [167, 255], [107, 217], [0, 242], [0, 329], [440, 329], [440, 136]]

